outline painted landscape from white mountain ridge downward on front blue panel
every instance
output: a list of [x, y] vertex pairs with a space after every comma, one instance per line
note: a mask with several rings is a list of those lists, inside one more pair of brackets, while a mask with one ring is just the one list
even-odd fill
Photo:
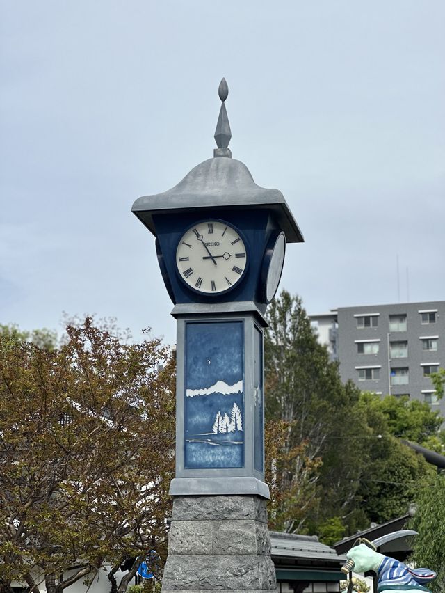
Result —
[[243, 380], [186, 389], [185, 403], [186, 467], [243, 467]]

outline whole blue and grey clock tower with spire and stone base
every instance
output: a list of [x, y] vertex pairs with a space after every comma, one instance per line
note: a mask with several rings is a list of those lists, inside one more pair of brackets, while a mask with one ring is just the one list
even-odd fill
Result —
[[277, 189], [232, 159], [225, 79], [213, 159], [133, 213], [156, 237], [177, 319], [176, 476], [163, 590], [275, 590], [264, 482], [263, 331], [286, 243]]

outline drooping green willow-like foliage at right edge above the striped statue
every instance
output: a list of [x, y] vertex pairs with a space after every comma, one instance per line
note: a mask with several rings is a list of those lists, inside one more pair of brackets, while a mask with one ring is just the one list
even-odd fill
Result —
[[414, 537], [411, 562], [428, 567], [437, 578], [428, 587], [432, 592], [445, 590], [445, 476], [432, 474], [417, 489], [416, 513], [410, 529], [419, 532]]

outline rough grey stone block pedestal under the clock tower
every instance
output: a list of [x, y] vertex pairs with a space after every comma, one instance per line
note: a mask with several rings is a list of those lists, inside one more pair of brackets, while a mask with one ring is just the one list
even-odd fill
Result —
[[177, 496], [163, 592], [276, 591], [266, 500], [260, 496]]

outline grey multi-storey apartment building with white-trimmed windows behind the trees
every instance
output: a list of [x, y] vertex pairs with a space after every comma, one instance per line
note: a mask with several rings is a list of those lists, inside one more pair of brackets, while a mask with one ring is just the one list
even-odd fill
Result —
[[445, 402], [430, 381], [445, 366], [445, 301], [339, 307], [309, 317], [339, 361], [343, 381], [382, 395], [409, 395], [445, 416]]

